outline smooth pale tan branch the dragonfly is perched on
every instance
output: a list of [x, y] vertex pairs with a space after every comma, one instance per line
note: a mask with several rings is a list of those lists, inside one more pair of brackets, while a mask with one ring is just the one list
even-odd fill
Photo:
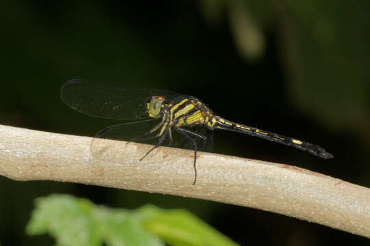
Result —
[[[90, 137], [0, 125], [0, 175], [14, 180], [56, 180], [197, 197], [280, 213], [370, 238], [370, 189], [299, 167], [161, 148], [160, 165], [102, 161]], [[111, 141], [111, 140], [107, 140]], [[131, 154], [141, 148], [133, 143]], [[183, 157], [181, 151], [188, 151]], [[127, 153], [112, 152], [117, 159]], [[125, 155], [126, 154], [126, 155]], [[126, 157], [127, 156], [127, 157]], [[156, 169], [155, 167], [158, 167]]]

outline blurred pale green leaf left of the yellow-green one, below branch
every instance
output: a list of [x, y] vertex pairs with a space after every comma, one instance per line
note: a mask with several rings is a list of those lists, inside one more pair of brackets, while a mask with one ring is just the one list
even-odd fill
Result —
[[49, 233], [57, 245], [162, 245], [125, 210], [95, 206], [70, 195], [36, 200], [27, 234]]

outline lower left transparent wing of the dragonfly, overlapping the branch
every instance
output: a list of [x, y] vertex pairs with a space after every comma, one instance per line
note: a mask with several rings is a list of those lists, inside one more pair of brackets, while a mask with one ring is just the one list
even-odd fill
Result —
[[168, 139], [153, 149], [158, 144], [160, 128], [153, 133], [149, 131], [158, 124], [158, 120], [145, 120], [103, 128], [91, 141], [91, 153], [97, 159], [113, 163], [150, 165], [152, 169], [162, 167], [161, 163], [164, 161], [188, 154], [186, 150], [172, 148], [171, 152], [176, 153], [169, 156]]

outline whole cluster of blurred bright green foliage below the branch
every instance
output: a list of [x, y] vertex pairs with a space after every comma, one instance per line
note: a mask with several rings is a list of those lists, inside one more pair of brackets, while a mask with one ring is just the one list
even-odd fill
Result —
[[37, 198], [26, 230], [29, 235], [49, 233], [60, 246], [164, 245], [162, 241], [177, 246], [236, 245], [185, 210], [153, 205], [113, 209], [71, 195]]

